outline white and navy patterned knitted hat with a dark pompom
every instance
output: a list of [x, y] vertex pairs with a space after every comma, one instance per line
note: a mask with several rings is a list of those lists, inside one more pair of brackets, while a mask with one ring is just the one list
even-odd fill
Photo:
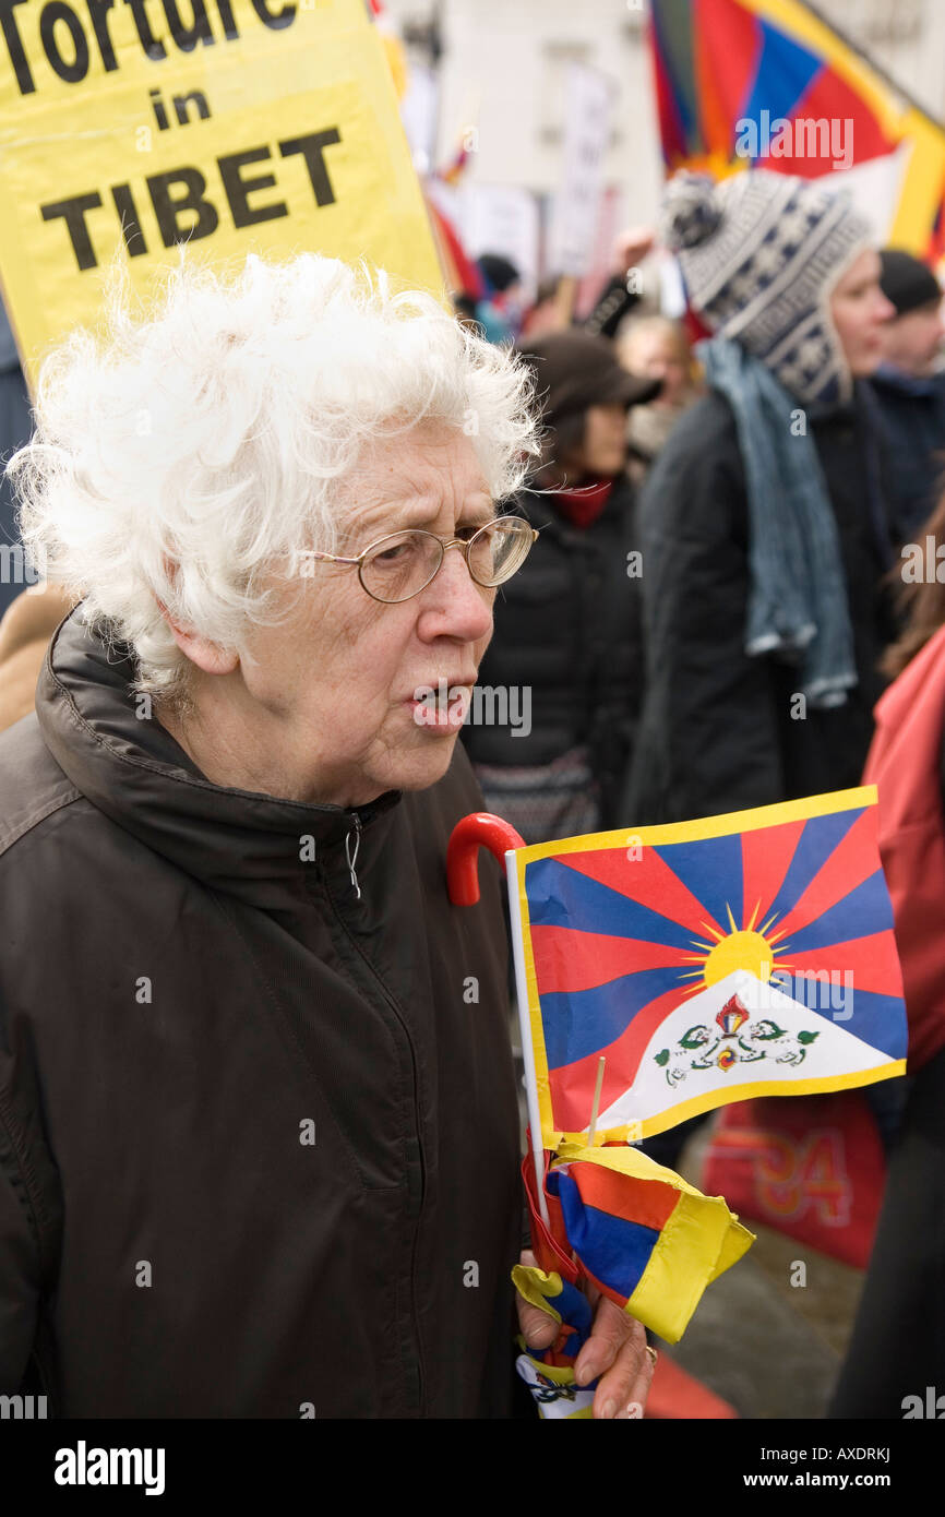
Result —
[[849, 397], [828, 300], [874, 235], [845, 194], [764, 168], [722, 184], [681, 171], [666, 187], [660, 237], [714, 332], [760, 358], [802, 402]]

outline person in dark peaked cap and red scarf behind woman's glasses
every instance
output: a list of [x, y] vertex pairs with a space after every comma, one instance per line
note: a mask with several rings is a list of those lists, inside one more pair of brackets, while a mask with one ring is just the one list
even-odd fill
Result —
[[626, 373], [607, 338], [579, 329], [522, 352], [546, 437], [519, 507], [542, 536], [520, 584], [496, 599], [479, 671], [491, 699], [464, 740], [487, 809], [534, 843], [619, 824], [642, 695], [626, 411], [660, 381]]

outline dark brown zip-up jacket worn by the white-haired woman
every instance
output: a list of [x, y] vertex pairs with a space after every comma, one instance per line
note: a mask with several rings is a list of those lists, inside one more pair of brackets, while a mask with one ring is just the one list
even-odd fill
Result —
[[519, 1121], [499, 871], [446, 895], [466, 755], [359, 809], [358, 901], [352, 813], [211, 784], [130, 677], [71, 617], [0, 739], [0, 1393], [508, 1415]]

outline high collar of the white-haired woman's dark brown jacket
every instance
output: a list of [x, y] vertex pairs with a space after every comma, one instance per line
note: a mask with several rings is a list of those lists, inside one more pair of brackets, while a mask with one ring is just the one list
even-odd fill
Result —
[[[135, 666], [73, 611], [53, 637], [36, 716], [53, 758], [77, 790], [153, 853], [205, 884], [255, 906], [300, 890], [311, 845], [343, 850], [358, 827], [373, 848], [400, 790], [344, 810], [211, 784], [156, 718], [138, 718]], [[303, 857], [305, 854], [305, 857]], [[359, 856], [358, 871], [369, 863]]]

